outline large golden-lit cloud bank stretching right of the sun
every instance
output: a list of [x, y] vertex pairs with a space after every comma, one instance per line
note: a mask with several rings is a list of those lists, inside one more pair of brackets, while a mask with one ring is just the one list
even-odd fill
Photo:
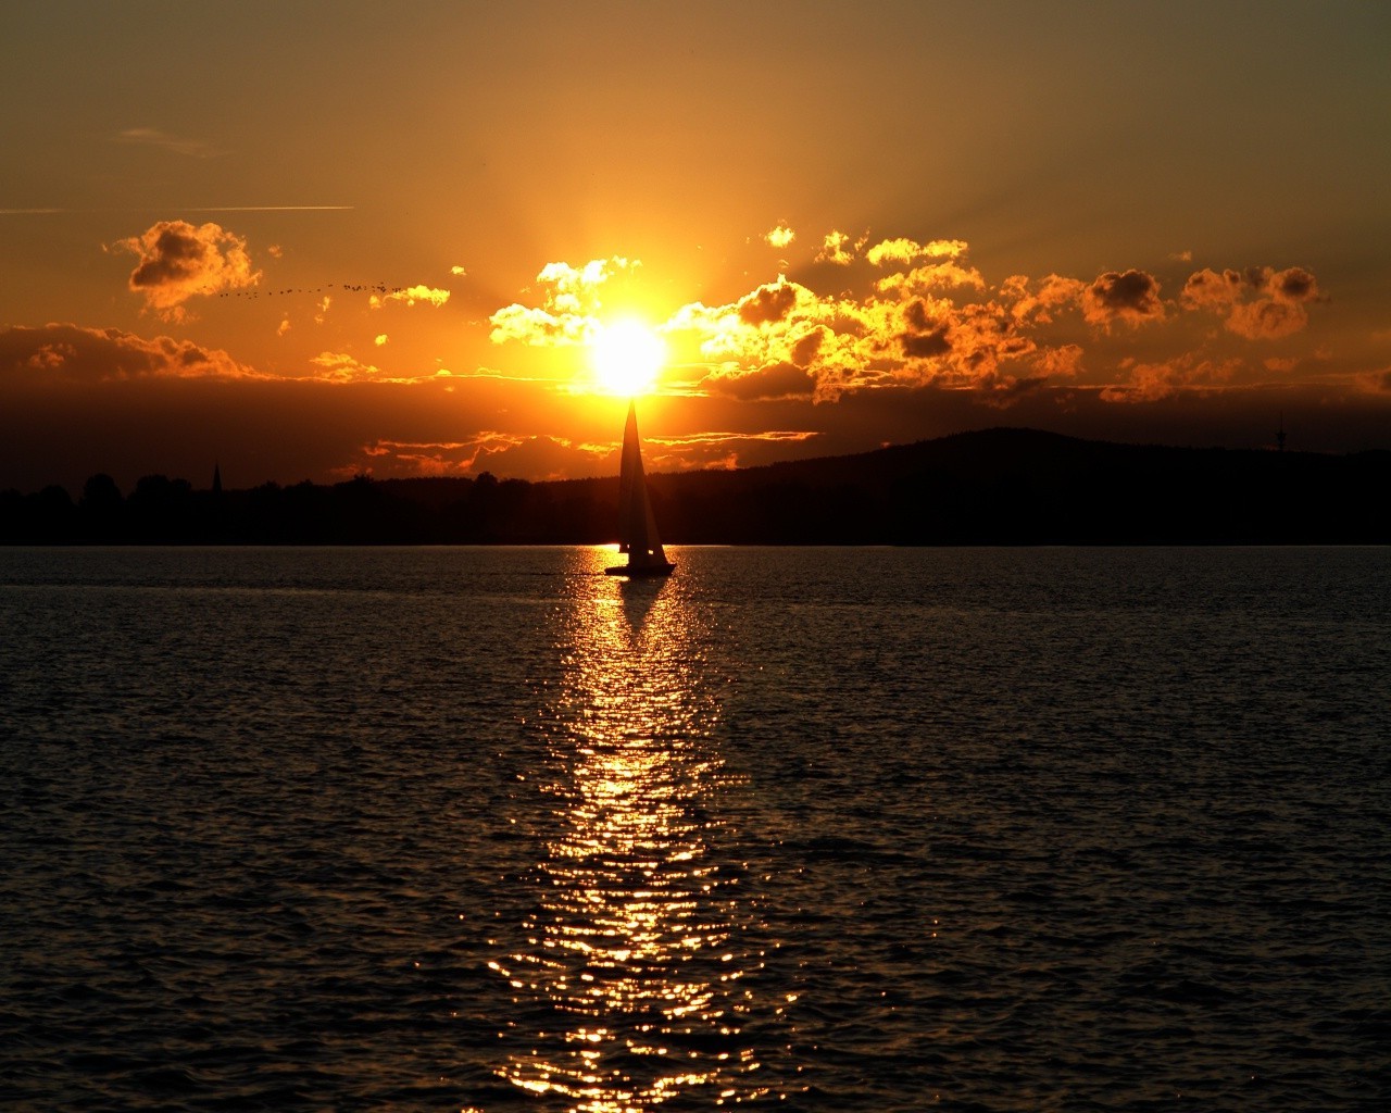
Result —
[[[1159, 278], [1139, 269], [1091, 281], [1014, 274], [992, 287], [968, 262], [964, 241], [879, 239], [857, 255], [865, 242], [830, 232], [817, 256], [878, 267], [860, 296], [819, 294], [779, 275], [726, 305], [693, 302], [672, 314], [664, 328], [684, 337], [707, 369], [698, 387], [743, 401], [830, 402], [854, 391], [935, 384], [1007, 405], [1053, 380], [1088, 376], [1103, 378], [1096, 385], [1111, 391], [1109, 399], [1125, 391], [1128, 401], [1157, 398], [1185, 387], [1214, 390], [1232, 376], [1235, 356], [1205, 353], [1200, 321], [1185, 324], [1185, 313], [1220, 307], [1228, 331], [1277, 338], [1302, 328], [1305, 306], [1321, 299], [1302, 269], [1231, 273], [1235, 278], [1199, 273], [1177, 302], [1166, 302]], [[1153, 355], [1127, 363], [1123, 345], [1141, 327]], [[1252, 373], [1259, 367], [1251, 362]]]

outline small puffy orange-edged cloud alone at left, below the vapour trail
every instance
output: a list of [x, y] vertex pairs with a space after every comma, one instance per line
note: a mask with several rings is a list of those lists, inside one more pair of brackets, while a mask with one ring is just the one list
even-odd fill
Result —
[[246, 241], [213, 223], [161, 220], [115, 246], [139, 256], [129, 288], [163, 320], [184, 320], [189, 298], [253, 287], [262, 278], [252, 270]]

